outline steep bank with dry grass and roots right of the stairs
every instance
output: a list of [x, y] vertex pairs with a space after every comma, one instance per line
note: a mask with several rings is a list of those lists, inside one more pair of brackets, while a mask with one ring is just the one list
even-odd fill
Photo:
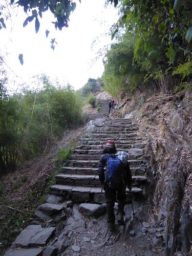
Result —
[[165, 222], [165, 255], [191, 255], [192, 92], [121, 93], [114, 116], [133, 118], [148, 138], [152, 217]]

